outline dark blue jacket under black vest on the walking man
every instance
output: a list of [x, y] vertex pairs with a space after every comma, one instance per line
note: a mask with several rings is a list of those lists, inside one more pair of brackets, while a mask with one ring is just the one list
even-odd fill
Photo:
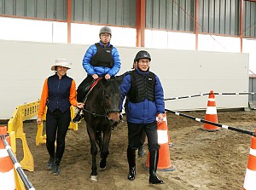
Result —
[[[148, 74], [148, 72], [141, 72], [137, 69], [137, 72], [142, 75]], [[155, 76], [155, 86], [154, 86], [154, 102], [145, 99], [142, 102], [131, 103], [128, 101], [126, 107], [126, 119], [128, 122], [135, 124], [149, 124], [156, 121], [157, 113], [165, 112], [165, 101], [164, 101], [164, 90], [160, 83], [160, 79]], [[120, 110], [123, 107], [123, 101], [125, 96], [131, 89], [131, 75], [127, 74], [123, 79], [123, 83], [120, 86], [122, 93], [122, 101], [120, 103]]]

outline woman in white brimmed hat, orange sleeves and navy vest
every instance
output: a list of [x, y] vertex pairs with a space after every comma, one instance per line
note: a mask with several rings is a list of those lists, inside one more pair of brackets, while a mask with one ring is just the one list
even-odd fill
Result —
[[[38, 110], [37, 123], [42, 124], [42, 116], [46, 112], [46, 147], [49, 153], [48, 170], [54, 175], [60, 174], [60, 163], [65, 150], [65, 138], [71, 121], [70, 106], [83, 108], [84, 104], [78, 102], [76, 83], [67, 76], [71, 63], [66, 59], [56, 59], [51, 66], [55, 74], [46, 78], [42, 90]], [[56, 148], [55, 148], [56, 141]]]

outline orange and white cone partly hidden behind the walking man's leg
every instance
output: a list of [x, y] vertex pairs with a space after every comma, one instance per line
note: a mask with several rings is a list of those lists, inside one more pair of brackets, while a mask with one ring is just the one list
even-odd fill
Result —
[[[158, 133], [158, 144], [160, 145], [157, 170], [173, 171], [174, 167], [171, 164], [170, 152], [169, 152], [169, 138], [168, 138], [169, 135], [168, 135], [166, 112], [164, 114], [164, 121], [161, 124], [157, 124], [157, 133]], [[148, 152], [148, 158], [146, 163], [147, 169], [149, 168], [149, 157], [150, 157], [150, 153]]]

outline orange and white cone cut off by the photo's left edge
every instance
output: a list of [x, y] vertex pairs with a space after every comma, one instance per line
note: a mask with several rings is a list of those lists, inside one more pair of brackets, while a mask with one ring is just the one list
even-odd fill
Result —
[[[0, 126], [0, 135], [7, 135], [7, 127]], [[6, 140], [10, 145], [9, 135], [6, 136]], [[0, 184], [1, 189], [15, 189], [15, 172], [14, 164], [12, 163], [9, 154], [4, 147], [3, 141], [0, 138]]]

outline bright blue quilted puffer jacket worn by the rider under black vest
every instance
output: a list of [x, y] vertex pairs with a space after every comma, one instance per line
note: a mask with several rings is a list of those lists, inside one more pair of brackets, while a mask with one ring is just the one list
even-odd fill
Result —
[[[100, 41], [102, 47], [103, 44]], [[110, 43], [108, 43], [108, 47], [110, 46]], [[93, 74], [97, 74], [98, 76], [104, 76], [106, 74], [109, 74], [110, 76], [115, 76], [121, 67], [121, 60], [120, 60], [120, 56], [119, 56], [119, 52], [118, 50], [113, 47], [112, 49], [112, 56], [113, 56], [113, 67], [112, 68], [108, 68], [108, 67], [104, 67], [104, 66], [91, 66], [90, 65], [90, 59], [93, 55], [96, 54], [97, 48], [96, 45], [93, 44], [91, 45], [87, 51], [84, 54], [84, 59], [83, 59], [83, 66], [84, 66], [84, 70], [91, 76]]]

